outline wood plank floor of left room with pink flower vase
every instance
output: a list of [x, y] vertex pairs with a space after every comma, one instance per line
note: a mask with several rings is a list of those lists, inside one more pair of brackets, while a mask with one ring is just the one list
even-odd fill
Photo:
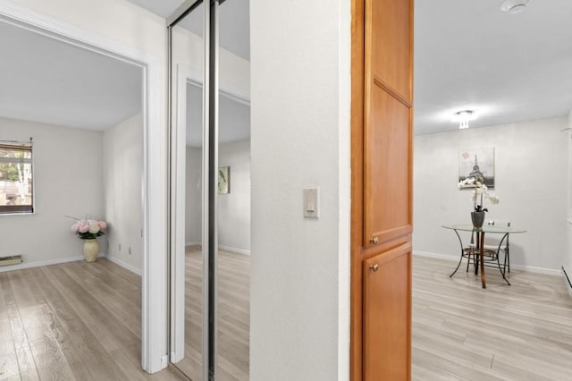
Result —
[[176, 380], [141, 359], [141, 278], [105, 258], [0, 273], [0, 379]]

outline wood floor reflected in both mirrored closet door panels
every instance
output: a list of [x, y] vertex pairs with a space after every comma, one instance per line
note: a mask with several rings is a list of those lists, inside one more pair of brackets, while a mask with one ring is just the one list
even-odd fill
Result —
[[[176, 364], [193, 381], [202, 377], [202, 267], [199, 246], [186, 250], [185, 358]], [[217, 381], [247, 381], [250, 335], [250, 257], [219, 250]]]

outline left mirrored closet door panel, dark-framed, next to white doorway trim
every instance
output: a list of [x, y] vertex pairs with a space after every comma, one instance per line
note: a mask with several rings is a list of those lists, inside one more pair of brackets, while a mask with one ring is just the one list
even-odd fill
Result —
[[[171, 362], [194, 381], [209, 374], [210, 9], [185, 2], [168, 26], [171, 129]], [[208, 19], [207, 19], [208, 21]], [[204, 86], [204, 84], [207, 84]], [[212, 373], [212, 372], [211, 372]]]

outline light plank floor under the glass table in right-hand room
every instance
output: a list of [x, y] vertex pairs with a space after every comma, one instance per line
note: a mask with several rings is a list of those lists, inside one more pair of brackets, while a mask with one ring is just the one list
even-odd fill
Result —
[[[463, 262], [465, 265], [466, 262]], [[572, 299], [561, 276], [414, 257], [415, 380], [572, 380]]]

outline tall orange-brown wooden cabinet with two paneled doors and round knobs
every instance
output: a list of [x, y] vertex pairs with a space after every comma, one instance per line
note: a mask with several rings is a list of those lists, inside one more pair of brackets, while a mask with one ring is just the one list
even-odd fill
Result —
[[408, 380], [413, 0], [352, 8], [351, 379]]

